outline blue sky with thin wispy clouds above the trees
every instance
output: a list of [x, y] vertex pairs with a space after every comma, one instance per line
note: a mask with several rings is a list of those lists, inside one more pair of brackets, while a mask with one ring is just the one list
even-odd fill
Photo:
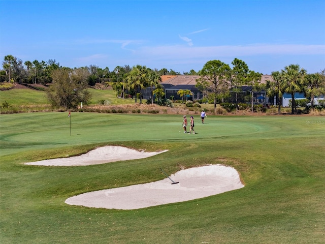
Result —
[[263, 74], [325, 69], [325, 1], [0, 1], [0, 59], [70, 68], [199, 71], [243, 60]]

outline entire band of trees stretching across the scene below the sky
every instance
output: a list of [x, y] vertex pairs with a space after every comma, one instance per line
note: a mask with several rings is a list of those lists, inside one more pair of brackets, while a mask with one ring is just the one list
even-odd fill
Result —
[[[271, 73], [272, 79], [266, 83], [261, 82], [262, 74], [249, 70], [247, 64], [238, 58], [230, 65], [220, 60], [208, 61], [196, 72], [184, 72], [183, 75], [199, 75], [196, 87], [214, 102], [214, 112], [217, 103], [235, 94], [236, 108], [238, 109], [238, 95], [242, 92], [243, 85], [251, 86], [250, 91], [251, 109], [253, 111], [253, 94], [266, 90], [269, 97], [277, 97], [278, 113], [280, 113], [281, 99], [284, 93], [291, 95], [291, 113], [297, 113], [295, 93], [304, 93], [306, 98], [314, 106], [314, 98], [325, 94], [325, 69], [314, 74], [307, 74], [299, 65], [289, 65], [281, 71]], [[0, 81], [17, 83], [41, 83], [50, 84], [47, 96], [52, 106], [76, 108], [80, 102], [87, 104], [90, 93], [87, 87], [99, 84], [109, 84], [113, 87], [117, 97], [125, 98], [125, 89], [128, 96], [135, 97], [139, 94], [142, 103], [142, 90], [150, 88], [151, 103], [164, 97], [164, 89], [160, 85], [161, 75], [180, 75], [166, 68], [157, 70], [146, 66], [136, 65], [129, 67], [117, 66], [113, 71], [90, 65], [89, 67], [68, 68], [62, 67], [55, 59], [48, 62], [22, 62], [21, 59], [12, 55], [4, 58], [3, 70], [0, 71]], [[185, 91], [187, 92], [187, 91]], [[185, 94], [185, 92], [182, 94]], [[181, 94], [181, 93], [180, 93]], [[186, 93], [187, 94], [187, 93]]]

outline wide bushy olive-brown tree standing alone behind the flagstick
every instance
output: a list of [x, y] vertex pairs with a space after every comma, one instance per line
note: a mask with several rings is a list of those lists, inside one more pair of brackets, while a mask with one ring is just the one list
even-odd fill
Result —
[[88, 104], [91, 94], [88, 91], [86, 68], [57, 69], [52, 72], [53, 83], [46, 95], [53, 107], [76, 109], [79, 103]]

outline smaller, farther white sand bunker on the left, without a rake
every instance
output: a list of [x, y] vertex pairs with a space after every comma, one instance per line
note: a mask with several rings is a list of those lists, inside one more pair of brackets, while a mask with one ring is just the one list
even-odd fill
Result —
[[92, 164], [105, 164], [121, 160], [144, 159], [157, 154], [165, 153], [166, 151], [167, 150], [146, 153], [145, 151], [137, 151], [122, 146], [103, 146], [88, 151], [88, 153], [80, 156], [48, 159], [25, 164], [43, 166], [85, 166]]

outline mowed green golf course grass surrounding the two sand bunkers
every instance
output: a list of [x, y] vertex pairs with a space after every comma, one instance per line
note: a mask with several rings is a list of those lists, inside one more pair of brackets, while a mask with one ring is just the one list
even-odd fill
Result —
[[[182, 115], [39, 112], [0, 115], [1, 243], [323, 243], [325, 118], [213, 116], [196, 135]], [[179, 132], [181, 131], [181, 132]], [[27, 166], [103, 145], [151, 158]], [[71, 196], [160, 180], [181, 168], [230, 165], [245, 187], [137, 210], [71, 206]], [[163, 196], [161, 196], [163, 197]], [[145, 200], [145, 199], [144, 199]]]

